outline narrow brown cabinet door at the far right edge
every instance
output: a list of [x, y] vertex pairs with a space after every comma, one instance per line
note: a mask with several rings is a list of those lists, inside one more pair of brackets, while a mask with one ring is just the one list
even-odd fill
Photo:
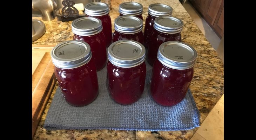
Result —
[[224, 34], [224, 5], [221, 6], [216, 20], [213, 24], [213, 28], [216, 31], [217, 35], [221, 38]]

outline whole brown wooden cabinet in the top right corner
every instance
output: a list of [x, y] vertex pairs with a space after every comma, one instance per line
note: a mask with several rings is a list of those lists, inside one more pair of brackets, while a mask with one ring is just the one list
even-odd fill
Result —
[[221, 38], [224, 34], [224, 0], [190, 0], [190, 2]]

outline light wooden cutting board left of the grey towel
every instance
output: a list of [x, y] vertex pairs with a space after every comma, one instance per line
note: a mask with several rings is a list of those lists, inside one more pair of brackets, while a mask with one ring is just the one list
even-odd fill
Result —
[[32, 138], [56, 82], [53, 47], [32, 46]]

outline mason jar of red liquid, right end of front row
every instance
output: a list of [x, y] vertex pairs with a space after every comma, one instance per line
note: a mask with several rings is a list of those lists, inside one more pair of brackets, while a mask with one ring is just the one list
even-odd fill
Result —
[[180, 103], [193, 78], [197, 52], [188, 44], [168, 41], [160, 45], [152, 69], [151, 97], [162, 106]]

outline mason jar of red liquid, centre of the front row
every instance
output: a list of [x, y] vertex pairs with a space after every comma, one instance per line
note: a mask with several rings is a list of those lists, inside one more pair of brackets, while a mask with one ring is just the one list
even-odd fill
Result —
[[145, 85], [144, 46], [132, 40], [120, 40], [108, 48], [107, 77], [110, 97], [129, 105], [140, 99]]

